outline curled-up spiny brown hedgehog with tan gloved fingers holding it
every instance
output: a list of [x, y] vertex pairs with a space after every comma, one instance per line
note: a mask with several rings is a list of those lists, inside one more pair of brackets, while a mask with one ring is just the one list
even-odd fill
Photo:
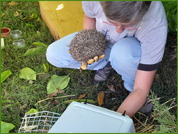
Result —
[[81, 62], [81, 69], [86, 70], [88, 64], [104, 58], [106, 39], [101, 32], [94, 29], [79, 31], [71, 40], [68, 52], [72, 58]]

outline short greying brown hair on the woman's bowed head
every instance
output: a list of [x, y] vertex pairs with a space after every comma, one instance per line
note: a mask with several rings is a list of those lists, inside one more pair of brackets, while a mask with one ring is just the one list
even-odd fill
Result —
[[141, 20], [151, 1], [100, 1], [107, 18], [122, 23]]

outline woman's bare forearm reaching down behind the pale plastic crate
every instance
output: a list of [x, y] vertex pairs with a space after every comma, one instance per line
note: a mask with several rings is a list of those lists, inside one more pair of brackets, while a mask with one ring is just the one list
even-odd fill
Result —
[[126, 111], [125, 113], [126, 115], [130, 117], [134, 116], [134, 114], [145, 103], [147, 95], [149, 95], [149, 91], [150, 91], [155, 73], [156, 73], [156, 70], [154, 71], [137, 70], [133, 91], [120, 105], [117, 112], [123, 113], [124, 111]]

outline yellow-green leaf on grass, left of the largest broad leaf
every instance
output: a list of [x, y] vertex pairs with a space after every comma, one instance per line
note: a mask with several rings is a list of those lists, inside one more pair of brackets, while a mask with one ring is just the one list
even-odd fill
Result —
[[26, 80], [36, 80], [36, 72], [26, 67], [20, 70], [19, 78]]

